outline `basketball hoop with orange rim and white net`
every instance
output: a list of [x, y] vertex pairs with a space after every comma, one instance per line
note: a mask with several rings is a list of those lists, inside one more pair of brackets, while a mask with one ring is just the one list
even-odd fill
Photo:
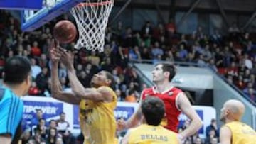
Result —
[[113, 6], [114, 0], [87, 0], [70, 10], [79, 31], [76, 49], [104, 50], [105, 30]]

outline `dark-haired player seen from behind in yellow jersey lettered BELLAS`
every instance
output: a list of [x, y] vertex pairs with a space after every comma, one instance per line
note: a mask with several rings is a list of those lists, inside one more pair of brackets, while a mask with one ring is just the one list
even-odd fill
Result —
[[177, 133], [160, 125], [164, 118], [164, 102], [158, 97], [148, 96], [142, 102], [144, 123], [130, 129], [122, 140], [122, 144], [178, 144], [181, 143]]

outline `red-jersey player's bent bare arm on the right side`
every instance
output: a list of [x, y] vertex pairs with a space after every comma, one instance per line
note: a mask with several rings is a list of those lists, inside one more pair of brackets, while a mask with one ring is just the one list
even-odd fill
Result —
[[199, 118], [198, 114], [193, 109], [190, 101], [188, 101], [186, 94], [181, 92], [178, 94], [176, 99], [176, 106], [178, 106], [178, 109], [181, 109], [182, 113], [191, 119], [191, 124], [188, 126], [188, 128], [179, 134], [182, 136], [181, 139], [184, 139], [196, 133], [201, 128], [203, 123], [201, 118]]

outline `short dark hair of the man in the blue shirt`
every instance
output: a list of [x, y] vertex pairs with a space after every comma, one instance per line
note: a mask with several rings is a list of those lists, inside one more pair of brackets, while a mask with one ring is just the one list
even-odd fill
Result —
[[4, 82], [7, 84], [21, 84], [30, 73], [31, 62], [27, 57], [10, 57], [4, 65]]

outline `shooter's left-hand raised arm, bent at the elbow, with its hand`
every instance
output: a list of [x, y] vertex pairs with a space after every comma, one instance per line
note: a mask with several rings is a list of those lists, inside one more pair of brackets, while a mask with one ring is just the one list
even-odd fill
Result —
[[50, 60], [51, 60], [51, 93], [53, 98], [58, 99], [60, 101], [64, 101], [69, 104], [80, 104], [80, 98], [75, 96], [72, 92], [63, 92], [61, 88], [59, 77], [58, 77], [58, 60], [60, 59], [60, 55], [58, 49], [54, 46], [54, 41], [52, 42], [52, 46], [50, 48]]

